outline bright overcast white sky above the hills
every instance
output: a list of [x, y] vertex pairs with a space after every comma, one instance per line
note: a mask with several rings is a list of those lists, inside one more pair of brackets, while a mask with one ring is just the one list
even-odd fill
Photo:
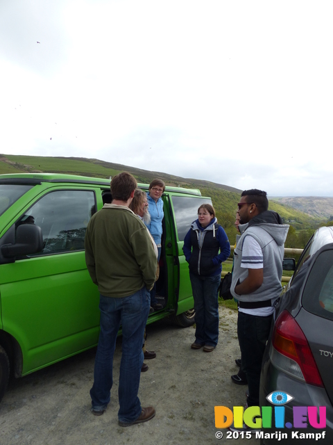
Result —
[[1, 0], [0, 153], [333, 196], [332, 0]]

